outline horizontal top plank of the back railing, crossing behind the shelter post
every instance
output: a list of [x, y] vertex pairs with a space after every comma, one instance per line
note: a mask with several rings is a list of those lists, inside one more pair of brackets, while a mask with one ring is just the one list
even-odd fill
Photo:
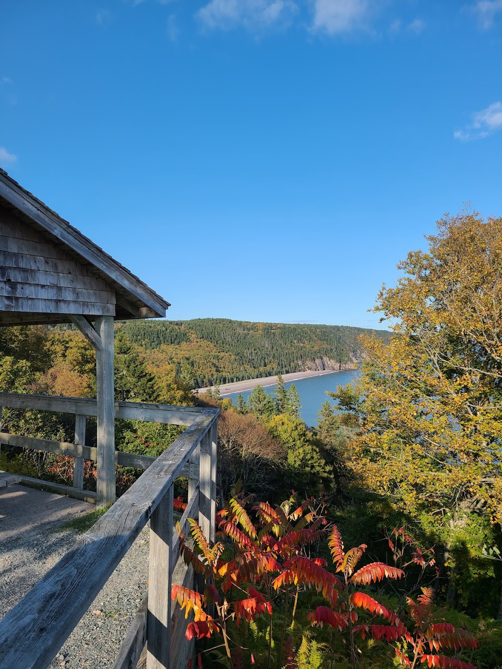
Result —
[[[96, 400], [82, 397], [0, 393], [0, 401], [6, 407], [13, 409], [39, 409], [39, 411], [97, 415]], [[174, 425], [191, 425], [204, 411], [201, 407], [176, 407], [145, 402], [115, 402], [114, 407], [116, 418]], [[217, 412], [216, 409], [213, 410]]]

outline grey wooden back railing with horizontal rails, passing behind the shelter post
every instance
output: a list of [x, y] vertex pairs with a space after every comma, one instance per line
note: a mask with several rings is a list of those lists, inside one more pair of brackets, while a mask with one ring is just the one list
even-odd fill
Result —
[[[14, 409], [37, 409], [39, 411], [58, 411], [75, 415], [75, 440], [70, 442], [54, 442], [48, 439], [37, 439], [20, 434], [9, 434], [2, 431], [2, 407]], [[144, 402], [115, 402], [115, 418], [139, 420], [171, 425], [191, 425], [201, 415], [199, 407], [173, 407], [165, 404], [147, 404]], [[36, 451], [57, 453], [74, 458], [73, 486], [42, 481], [30, 476], [21, 476], [23, 483], [47, 490], [54, 490], [70, 497], [96, 502], [96, 493], [84, 490], [84, 460], [98, 458], [98, 449], [86, 446], [86, 418], [96, 416], [95, 399], [81, 397], [54, 397], [52, 395], [19, 395], [17, 393], [0, 393], [0, 444], [17, 446]], [[155, 462], [155, 458], [133, 453], [115, 451], [115, 464], [145, 470]], [[180, 476], [189, 476], [189, 466], [185, 466]], [[99, 476], [99, 472], [98, 472]]]

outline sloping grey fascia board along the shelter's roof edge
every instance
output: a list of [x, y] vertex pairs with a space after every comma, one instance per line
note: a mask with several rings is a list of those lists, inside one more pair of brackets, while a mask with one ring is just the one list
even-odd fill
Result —
[[[98, 270], [104, 272], [110, 279], [124, 286], [129, 292], [151, 307], [158, 316], [165, 316], [165, 310], [169, 306], [159, 295], [155, 294], [149, 286], [135, 277], [131, 272], [122, 267], [116, 260], [105, 254], [102, 249], [93, 244], [74, 227], [57, 217], [43, 203], [37, 201], [33, 196], [23, 191], [17, 184], [0, 179], [0, 195], [12, 205], [17, 207], [25, 215], [38, 223], [45, 231], [54, 235], [56, 240], [62, 242], [70, 249], [79, 254], [86, 262], [90, 262]], [[4, 248], [0, 246], [0, 248]], [[7, 248], [6, 250], [11, 250]], [[42, 252], [43, 255], [46, 255]]]

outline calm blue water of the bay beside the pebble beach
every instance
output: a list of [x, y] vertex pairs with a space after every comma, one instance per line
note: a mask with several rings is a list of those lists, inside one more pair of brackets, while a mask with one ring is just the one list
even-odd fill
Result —
[[[301, 417], [307, 425], [317, 425], [317, 412], [321, 409], [321, 404], [327, 399], [331, 399], [331, 397], [327, 397], [326, 391], [335, 392], [337, 386], [351, 383], [353, 379], [357, 378], [357, 375], [359, 375], [359, 370], [351, 369], [350, 371], [322, 374], [321, 376], [309, 377], [308, 379], [298, 379], [298, 381], [288, 381], [284, 383], [284, 386], [289, 388], [292, 383], [296, 385], [302, 403]], [[266, 382], [267, 380], [264, 379], [263, 383]], [[266, 392], [269, 394], [272, 394], [274, 389], [274, 385], [265, 387]], [[242, 396], [247, 401], [250, 394], [251, 391], [248, 390], [242, 393]], [[230, 397], [235, 403], [237, 395], [238, 393], [232, 393], [231, 395], [224, 395], [224, 397]]]

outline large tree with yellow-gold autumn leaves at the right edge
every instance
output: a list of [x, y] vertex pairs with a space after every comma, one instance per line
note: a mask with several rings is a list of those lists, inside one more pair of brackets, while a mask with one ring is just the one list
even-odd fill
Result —
[[334, 396], [357, 424], [349, 471], [448, 548], [469, 514], [502, 520], [502, 219], [447, 215], [426, 239], [378, 295], [395, 336], [365, 337], [359, 381]]

